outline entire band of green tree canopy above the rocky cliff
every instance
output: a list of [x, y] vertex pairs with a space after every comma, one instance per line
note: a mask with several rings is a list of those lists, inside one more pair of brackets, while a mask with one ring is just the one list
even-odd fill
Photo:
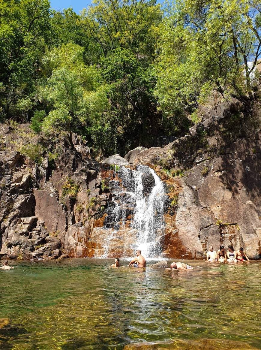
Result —
[[[0, 118], [78, 132], [100, 156], [178, 135], [213, 91], [254, 99], [258, 0], [0, 3]], [[251, 63], [250, 63], [251, 62]]]

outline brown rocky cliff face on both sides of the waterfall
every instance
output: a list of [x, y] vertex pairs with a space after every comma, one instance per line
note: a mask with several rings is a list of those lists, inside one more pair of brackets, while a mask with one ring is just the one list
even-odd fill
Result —
[[[142, 164], [164, 182], [165, 227], [157, 238], [163, 257], [204, 258], [210, 244], [222, 243], [260, 258], [261, 138], [254, 130], [260, 114], [250, 108], [243, 98], [201, 106], [201, 121], [188, 135], [103, 164], [91, 159], [77, 135], [45, 140], [29, 125], [1, 124], [1, 257], [132, 255], [137, 248], [132, 181], [125, 181], [117, 164], [127, 172]], [[247, 130], [250, 113], [257, 115]], [[149, 172], [142, 183], [143, 196], [149, 196], [155, 185]]]

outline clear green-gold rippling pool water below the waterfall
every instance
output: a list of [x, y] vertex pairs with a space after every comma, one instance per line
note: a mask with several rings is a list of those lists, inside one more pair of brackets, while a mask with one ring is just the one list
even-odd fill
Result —
[[11, 262], [0, 349], [261, 349], [260, 262], [187, 261], [197, 267], [172, 273], [112, 262]]

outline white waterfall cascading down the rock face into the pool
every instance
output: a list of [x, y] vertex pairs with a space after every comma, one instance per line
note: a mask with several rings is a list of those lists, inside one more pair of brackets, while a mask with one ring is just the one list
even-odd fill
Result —
[[[104, 229], [111, 233], [105, 239], [104, 255], [108, 256], [110, 242], [125, 230], [127, 217], [131, 217], [131, 230], [136, 233], [135, 246], [124, 252], [140, 249], [146, 258], [160, 257], [160, 237], [164, 233], [164, 186], [153, 169], [139, 165], [136, 170], [120, 166], [110, 180], [112, 201], [106, 208]], [[125, 253], [123, 253], [125, 254]]]

